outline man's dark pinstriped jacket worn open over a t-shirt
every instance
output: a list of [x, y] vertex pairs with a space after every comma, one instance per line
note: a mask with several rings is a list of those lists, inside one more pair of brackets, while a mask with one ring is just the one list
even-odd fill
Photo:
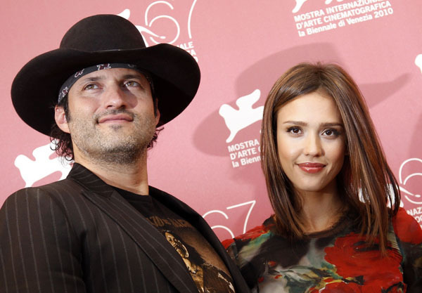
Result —
[[[152, 188], [152, 187], [150, 187]], [[205, 220], [161, 190], [249, 292]], [[13, 193], [0, 209], [0, 292], [198, 292], [179, 254], [117, 191], [82, 165], [68, 178]]]

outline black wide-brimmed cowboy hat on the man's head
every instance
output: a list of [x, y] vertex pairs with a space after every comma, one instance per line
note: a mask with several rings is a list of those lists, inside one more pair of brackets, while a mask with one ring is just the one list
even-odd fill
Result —
[[146, 47], [138, 29], [117, 15], [84, 18], [66, 32], [60, 48], [30, 60], [12, 84], [12, 102], [25, 123], [50, 135], [60, 86], [75, 72], [102, 63], [130, 63], [153, 77], [159, 125], [179, 115], [198, 90], [196, 60], [169, 44]]

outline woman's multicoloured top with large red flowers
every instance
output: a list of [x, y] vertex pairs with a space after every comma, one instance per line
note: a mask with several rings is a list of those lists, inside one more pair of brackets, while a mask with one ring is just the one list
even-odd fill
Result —
[[348, 215], [330, 230], [292, 241], [262, 226], [225, 240], [252, 292], [422, 292], [422, 230], [399, 209], [390, 221], [387, 256], [370, 244]]

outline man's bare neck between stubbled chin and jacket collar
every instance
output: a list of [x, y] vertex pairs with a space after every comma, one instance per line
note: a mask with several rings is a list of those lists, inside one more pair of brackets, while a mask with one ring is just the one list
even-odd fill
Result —
[[146, 153], [131, 164], [92, 162], [82, 156], [75, 156], [75, 162], [89, 169], [108, 185], [139, 195], [148, 195]]

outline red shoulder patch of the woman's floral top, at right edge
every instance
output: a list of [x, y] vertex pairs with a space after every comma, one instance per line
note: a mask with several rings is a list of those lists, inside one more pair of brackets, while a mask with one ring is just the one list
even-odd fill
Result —
[[401, 242], [422, 245], [421, 226], [404, 208], [399, 208], [397, 214], [392, 217], [392, 226]]

